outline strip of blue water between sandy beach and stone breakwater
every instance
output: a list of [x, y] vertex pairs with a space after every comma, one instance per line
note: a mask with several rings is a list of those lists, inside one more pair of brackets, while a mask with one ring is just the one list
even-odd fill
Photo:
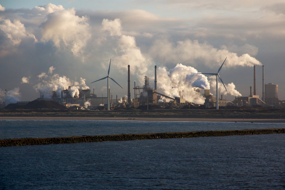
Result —
[[0, 120], [0, 139], [262, 128], [285, 128], [285, 123]]

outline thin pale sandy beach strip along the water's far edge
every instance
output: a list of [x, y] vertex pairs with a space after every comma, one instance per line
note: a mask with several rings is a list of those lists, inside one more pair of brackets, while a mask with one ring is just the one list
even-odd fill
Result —
[[228, 119], [228, 118], [161, 118], [161, 117], [0, 117], [0, 120], [126, 120], [126, 121], [177, 121], [177, 122], [254, 122], [285, 123], [285, 119]]

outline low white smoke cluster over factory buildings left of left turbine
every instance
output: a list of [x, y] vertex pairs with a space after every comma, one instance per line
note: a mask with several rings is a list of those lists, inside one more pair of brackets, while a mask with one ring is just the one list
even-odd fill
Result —
[[85, 83], [86, 79], [83, 78], [80, 78], [79, 83], [58, 74], [48, 76], [45, 73], [41, 73], [38, 77], [41, 81], [35, 85], [34, 88], [40, 93], [40, 97], [43, 97], [44, 99], [50, 99], [53, 96], [61, 97], [61, 91], [64, 89], [68, 89], [71, 97], [78, 97], [79, 89], [89, 89]]

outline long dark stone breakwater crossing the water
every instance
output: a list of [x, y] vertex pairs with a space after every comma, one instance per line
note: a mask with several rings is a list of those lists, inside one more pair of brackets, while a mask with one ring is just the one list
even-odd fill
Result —
[[285, 128], [0, 139], [0, 146], [1, 147], [25, 146], [25, 145], [43, 145], [43, 144], [79, 143], [79, 142], [103, 142], [103, 141], [143, 140], [143, 139], [162, 139], [162, 138], [190, 138], [190, 137], [206, 137], [206, 136], [254, 135], [254, 134], [273, 134], [273, 133], [285, 133]]

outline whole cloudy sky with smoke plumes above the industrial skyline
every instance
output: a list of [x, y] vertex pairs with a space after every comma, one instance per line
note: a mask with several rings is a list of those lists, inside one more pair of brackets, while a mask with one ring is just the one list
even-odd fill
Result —
[[[113, 98], [149, 77], [158, 92], [203, 103], [204, 89], [233, 100], [249, 96], [256, 65], [257, 95], [278, 84], [285, 99], [285, 2], [273, 1], [0, 1], [0, 101], [32, 101], [74, 86]], [[5, 94], [5, 89], [7, 93]], [[134, 97], [133, 89], [131, 98]]]

